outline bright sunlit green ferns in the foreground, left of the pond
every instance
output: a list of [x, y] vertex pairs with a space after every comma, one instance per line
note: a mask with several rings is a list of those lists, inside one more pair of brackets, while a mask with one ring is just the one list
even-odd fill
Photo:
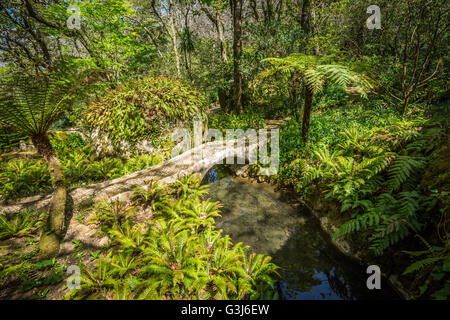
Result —
[[[162, 188], [137, 188], [130, 202], [98, 203], [80, 213], [110, 238], [100, 251], [90, 251], [89, 267], [80, 262], [81, 288], [67, 299], [270, 299], [276, 266], [270, 257], [250, 253], [242, 243], [214, 228], [220, 204], [205, 199], [206, 187], [194, 176]], [[139, 215], [144, 211], [145, 216]], [[40, 220], [32, 212], [0, 220], [2, 237], [30, 234]], [[75, 241], [76, 247], [83, 244]], [[79, 251], [79, 250], [78, 250]], [[74, 254], [78, 255], [75, 250]], [[84, 254], [78, 256], [82, 258]], [[21, 281], [21, 290], [60, 283], [66, 267], [55, 260], [32, 262], [6, 257], [0, 280]], [[5, 262], [2, 257], [2, 263]], [[19, 262], [24, 260], [23, 262]], [[82, 260], [85, 261], [85, 260]], [[47, 276], [33, 270], [47, 267]], [[48, 289], [47, 289], [48, 292]]]

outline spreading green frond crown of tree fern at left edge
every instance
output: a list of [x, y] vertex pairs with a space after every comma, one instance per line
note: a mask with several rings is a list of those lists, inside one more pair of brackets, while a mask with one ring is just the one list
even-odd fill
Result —
[[0, 123], [29, 135], [44, 134], [67, 108], [69, 87], [62, 82], [19, 79], [0, 88]]

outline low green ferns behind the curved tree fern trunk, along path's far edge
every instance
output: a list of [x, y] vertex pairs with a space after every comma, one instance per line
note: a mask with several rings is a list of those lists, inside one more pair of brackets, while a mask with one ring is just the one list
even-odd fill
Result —
[[[97, 159], [92, 148], [79, 134], [50, 134], [61, 160], [68, 187], [114, 179], [162, 162], [164, 155], [135, 155], [128, 159]], [[52, 191], [50, 175], [44, 159], [10, 159], [0, 162], [0, 195], [3, 200]]]

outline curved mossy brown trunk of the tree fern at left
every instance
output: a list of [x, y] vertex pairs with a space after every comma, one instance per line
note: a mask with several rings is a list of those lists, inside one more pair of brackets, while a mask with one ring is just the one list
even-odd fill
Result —
[[47, 134], [36, 135], [32, 137], [32, 141], [38, 153], [47, 161], [53, 186], [47, 223], [42, 230], [39, 241], [39, 256], [41, 259], [46, 259], [57, 255], [59, 252], [59, 244], [65, 227], [67, 191], [61, 163], [56, 157]]

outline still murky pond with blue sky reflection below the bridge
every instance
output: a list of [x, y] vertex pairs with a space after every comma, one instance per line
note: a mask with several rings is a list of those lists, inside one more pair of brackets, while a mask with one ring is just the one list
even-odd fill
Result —
[[273, 186], [232, 177], [220, 166], [203, 183], [209, 184], [209, 197], [223, 205], [217, 229], [280, 267], [282, 299], [399, 299], [384, 279], [381, 290], [369, 290], [366, 269], [334, 247], [316, 218]]

